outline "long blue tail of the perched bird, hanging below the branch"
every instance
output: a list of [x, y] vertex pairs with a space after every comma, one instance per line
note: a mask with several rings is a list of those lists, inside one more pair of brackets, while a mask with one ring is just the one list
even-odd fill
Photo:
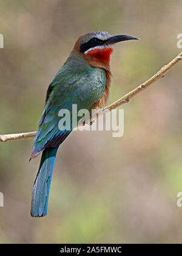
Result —
[[41, 163], [33, 186], [31, 216], [42, 217], [47, 215], [50, 183], [55, 164], [56, 148], [47, 148], [42, 152]]

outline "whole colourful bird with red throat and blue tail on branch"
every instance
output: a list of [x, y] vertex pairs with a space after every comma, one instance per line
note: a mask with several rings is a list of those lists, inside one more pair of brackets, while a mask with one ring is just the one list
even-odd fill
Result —
[[74, 119], [72, 104], [77, 104], [78, 110], [84, 108], [90, 111], [103, 107], [109, 95], [109, 62], [113, 44], [133, 39], [138, 38], [129, 35], [111, 36], [100, 31], [82, 35], [49, 85], [30, 158], [31, 160], [42, 152], [32, 192], [31, 216], [47, 215], [56, 152], [74, 128], [71, 126], [70, 130], [65, 130], [58, 126], [59, 110], [66, 108]]

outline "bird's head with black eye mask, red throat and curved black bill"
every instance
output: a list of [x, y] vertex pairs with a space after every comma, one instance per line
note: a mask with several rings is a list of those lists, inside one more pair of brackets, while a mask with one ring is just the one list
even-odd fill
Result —
[[82, 55], [92, 66], [109, 68], [110, 55], [113, 52], [113, 44], [126, 40], [137, 40], [130, 35], [112, 36], [107, 32], [92, 32], [78, 38], [73, 52]]

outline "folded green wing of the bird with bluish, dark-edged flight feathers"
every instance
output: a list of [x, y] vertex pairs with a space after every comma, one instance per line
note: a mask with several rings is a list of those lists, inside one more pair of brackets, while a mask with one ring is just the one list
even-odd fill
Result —
[[106, 73], [102, 68], [90, 66], [89, 69], [74, 72], [67, 65], [62, 66], [47, 90], [45, 108], [32, 151], [33, 157], [45, 148], [59, 146], [74, 128], [64, 130], [64, 126], [58, 127], [61, 119], [58, 116], [59, 110], [69, 110], [72, 123], [72, 104], [77, 104], [78, 111], [82, 108], [90, 110], [102, 97], [105, 87]]

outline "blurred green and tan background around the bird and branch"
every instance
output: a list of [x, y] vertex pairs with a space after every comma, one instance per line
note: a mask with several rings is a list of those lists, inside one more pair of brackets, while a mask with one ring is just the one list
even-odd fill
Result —
[[[107, 30], [115, 46], [109, 102], [180, 53], [181, 1], [0, 0], [0, 133], [38, 127], [45, 93], [79, 35]], [[40, 157], [33, 140], [0, 144], [1, 243], [181, 243], [182, 63], [124, 108], [124, 136], [72, 132], [56, 157], [49, 213], [30, 217]]]

